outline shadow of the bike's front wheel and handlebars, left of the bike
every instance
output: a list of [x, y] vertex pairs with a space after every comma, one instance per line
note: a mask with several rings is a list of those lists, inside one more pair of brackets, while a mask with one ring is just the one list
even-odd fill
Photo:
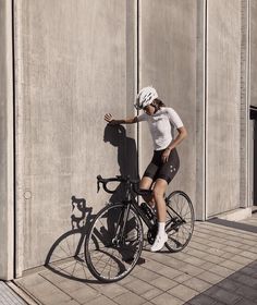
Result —
[[72, 230], [62, 234], [51, 246], [45, 266], [52, 272], [79, 282], [96, 282], [85, 263], [85, 236], [94, 215], [85, 198], [71, 197]]

